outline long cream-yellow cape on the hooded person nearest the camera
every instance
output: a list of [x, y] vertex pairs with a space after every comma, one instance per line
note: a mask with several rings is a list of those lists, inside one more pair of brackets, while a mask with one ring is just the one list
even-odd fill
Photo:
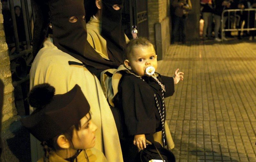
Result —
[[[64, 94], [78, 84], [87, 98], [92, 112], [92, 122], [96, 130], [95, 148], [102, 151], [108, 161], [123, 161], [116, 124], [100, 82], [85, 67], [69, 65], [68, 61], [82, 63], [71, 55], [62, 52], [47, 38], [44, 47], [37, 53], [30, 70], [30, 89], [37, 84], [49, 83], [55, 87], [55, 94]], [[32, 112], [32, 108], [30, 109]], [[72, 117], [72, 116], [70, 116]], [[34, 146], [32, 146], [34, 143]], [[40, 143], [31, 138], [31, 156], [41, 158]], [[32, 150], [34, 153], [32, 153]], [[37, 151], [37, 153], [36, 153]], [[32, 157], [33, 161], [33, 157]], [[35, 160], [34, 160], [35, 161]]]

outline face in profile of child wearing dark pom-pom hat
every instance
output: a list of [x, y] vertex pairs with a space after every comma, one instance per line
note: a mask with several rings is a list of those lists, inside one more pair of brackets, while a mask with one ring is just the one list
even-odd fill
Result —
[[86, 114], [81, 120], [81, 129], [73, 132], [72, 142], [75, 149], [89, 149], [95, 146], [95, 131], [97, 126], [90, 120], [90, 114]]

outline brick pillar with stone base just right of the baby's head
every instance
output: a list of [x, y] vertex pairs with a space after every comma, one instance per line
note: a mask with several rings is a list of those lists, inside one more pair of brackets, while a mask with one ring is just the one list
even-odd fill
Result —
[[[155, 24], [160, 24], [161, 36], [157, 37]], [[162, 48], [162, 53], [157, 53], [162, 55], [159, 58], [163, 58], [170, 46], [170, 0], [148, 0], [148, 31], [149, 40], [153, 43], [156, 48], [156, 42], [161, 42], [158, 48]], [[158, 50], [157, 50], [158, 51]]]

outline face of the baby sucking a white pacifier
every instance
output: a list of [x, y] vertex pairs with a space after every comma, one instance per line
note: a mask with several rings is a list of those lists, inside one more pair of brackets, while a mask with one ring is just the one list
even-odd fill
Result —
[[157, 69], [157, 55], [153, 45], [138, 46], [133, 49], [133, 54], [129, 60], [125, 60], [126, 67], [131, 68], [137, 75], [146, 76], [146, 68], [149, 66]]

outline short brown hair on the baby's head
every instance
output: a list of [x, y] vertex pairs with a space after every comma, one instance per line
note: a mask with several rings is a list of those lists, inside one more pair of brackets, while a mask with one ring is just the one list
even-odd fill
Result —
[[153, 44], [146, 38], [138, 38], [130, 40], [125, 46], [125, 59], [130, 59], [133, 49], [139, 46], [153, 46]]

